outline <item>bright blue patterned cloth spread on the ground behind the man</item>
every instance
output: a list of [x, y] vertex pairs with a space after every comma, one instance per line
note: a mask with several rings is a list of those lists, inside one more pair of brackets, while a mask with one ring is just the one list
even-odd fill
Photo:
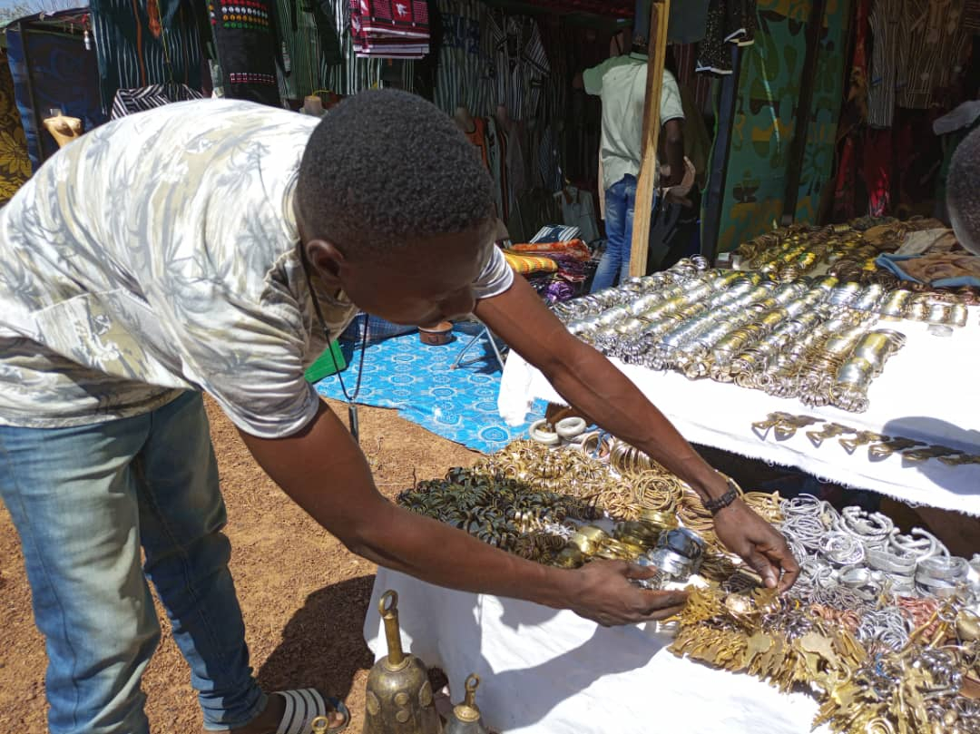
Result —
[[[526, 437], [527, 424], [512, 428], [497, 414], [501, 370], [488, 354], [486, 339], [466, 352], [463, 367], [450, 368], [480, 328], [475, 323], [458, 323], [453, 331], [456, 338], [439, 347], [422, 344], [416, 333], [369, 345], [358, 403], [395, 408], [399, 416], [485, 454]], [[351, 367], [344, 370], [343, 377], [348, 391], [354, 389], [360, 358], [358, 350], [347, 355]], [[336, 375], [324, 377], [317, 391], [344, 400]], [[531, 419], [544, 417], [546, 406], [543, 401], [535, 403]]]

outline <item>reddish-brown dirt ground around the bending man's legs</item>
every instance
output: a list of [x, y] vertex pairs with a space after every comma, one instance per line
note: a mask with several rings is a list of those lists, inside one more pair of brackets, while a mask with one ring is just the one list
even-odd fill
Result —
[[[338, 415], [346, 409], [333, 404]], [[228, 510], [231, 571], [245, 616], [252, 664], [265, 690], [316, 686], [347, 702], [360, 731], [372, 657], [362, 625], [374, 565], [350, 554], [296, 507], [252, 460], [237, 432], [209, 403], [212, 437]], [[398, 417], [362, 408], [361, 437], [379, 489], [388, 497], [479, 455]], [[324, 482], [328, 486], [328, 482]], [[187, 665], [158, 603], [163, 640], [143, 677], [154, 732], [201, 730]], [[0, 504], [0, 732], [46, 731], [46, 665], [30, 612], [20, 543]]]

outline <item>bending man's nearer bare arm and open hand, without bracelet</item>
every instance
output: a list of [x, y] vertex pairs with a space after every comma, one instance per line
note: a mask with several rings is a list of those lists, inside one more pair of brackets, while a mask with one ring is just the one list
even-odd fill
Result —
[[630, 583], [650, 575], [641, 566], [593, 562], [578, 570], [553, 568], [393, 505], [378, 493], [364, 454], [325, 404], [304, 430], [288, 438], [240, 434], [289, 497], [373, 563], [439, 586], [570, 609], [601, 624], [662, 619], [684, 602], [683, 594]]

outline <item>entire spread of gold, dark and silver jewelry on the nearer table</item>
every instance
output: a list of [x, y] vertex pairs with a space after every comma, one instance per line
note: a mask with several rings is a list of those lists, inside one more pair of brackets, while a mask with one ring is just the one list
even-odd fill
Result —
[[970, 585], [980, 560], [951, 557], [931, 534], [902, 534], [882, 514], [838, 513], [809, 495], [742, 497], [801, 563], [787, 594], [760, 589], [725, 552], [690, 488], [609, 436], [562, 449], [517, 441], [419, 482], [399, 503], [539, 563], [635, 561], [657, 571], [650, 588], [699, 574], [709, 585], [663, 627], [676, 631], [671, 650], [784, 691], [808, 686], [821, 704], [816, 724], [980, 734], [980, 709], [964, 695], [968, 684], [980, 690], [980, 589]]

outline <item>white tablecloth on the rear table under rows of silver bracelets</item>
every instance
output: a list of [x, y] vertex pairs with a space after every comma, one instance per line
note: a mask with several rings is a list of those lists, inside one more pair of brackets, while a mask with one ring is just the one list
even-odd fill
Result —
[[[928, 333], [926, 324], [882, 322], [907, 335], [905, 348], [893, 355], [868, 393], [863, 414], [836, 408], [809, 409], [798, 400], [772, 398], [711, 379], [689, 380], [677, 372], [613, 364], [694, 443], [743, 456], [793, 465], [835, 482], [871, 489], [900, 500], [980, 515], [980, 465], [948, 466], [937, 460], [912, 464], [898, 455], [872, 460], [867, 448], [848, 455], [831, 439], [817, 449], [806, 430], [786, 441], [770, 432], [763, 440], [752, 423], [783, 411], [816, 416], [858, 430], [927, 441], [980, 454], [980, 329], [978, 310], [953, 336]], [[523, 422], [535, 398], [564, 402], [534, 367], [513, 350], [501, 380], [498, 407], [508, 423]], [[819, 427], [819, 426], [817, 426]]]

